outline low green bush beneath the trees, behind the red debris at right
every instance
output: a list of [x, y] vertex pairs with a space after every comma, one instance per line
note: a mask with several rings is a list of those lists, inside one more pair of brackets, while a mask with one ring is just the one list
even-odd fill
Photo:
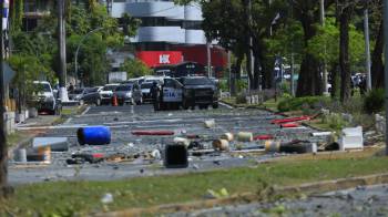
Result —
[[330, 101], [326, 96], [306, 96], [306, 97], [290, 97], [283, 100], [277, 110], [280, 112], [306, 110], [306, 108], [321, 108]]

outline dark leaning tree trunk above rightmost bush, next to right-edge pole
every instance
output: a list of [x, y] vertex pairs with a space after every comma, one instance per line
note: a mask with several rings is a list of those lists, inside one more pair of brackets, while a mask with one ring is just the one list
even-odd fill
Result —
[[384, 87], [384, 64], [382, 64], [382, 49], [384, 49], [384, 35], [382, 35], [382, 20], [379, 27], [378, 34], [376, 37], [376, 43], [374, 53], [371, 54], [371, 85], [374, 89]]

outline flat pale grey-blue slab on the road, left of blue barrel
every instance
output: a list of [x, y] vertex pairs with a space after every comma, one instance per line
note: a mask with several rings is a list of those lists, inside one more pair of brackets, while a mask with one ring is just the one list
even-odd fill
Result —
[[68, 137], [34, 137], [32, 147], [34, 149], [50, 146], [52, 152], [67, 152], [69, 149]]

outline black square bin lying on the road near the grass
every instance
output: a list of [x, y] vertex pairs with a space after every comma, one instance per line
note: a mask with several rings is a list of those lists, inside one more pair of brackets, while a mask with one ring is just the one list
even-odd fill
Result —
[[188, 153], [185, 145], [167, 144], [164, 151], [164, 166], [166, 168], [186, 168]]

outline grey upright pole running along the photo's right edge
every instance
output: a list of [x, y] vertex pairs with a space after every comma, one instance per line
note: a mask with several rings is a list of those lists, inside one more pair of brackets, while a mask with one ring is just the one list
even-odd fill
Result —
[[[384, 0], [382, 18], [384, 18], [384, 41], [388, 42], [388, 0]], [[388, 43], [384, 43], [384, 62], [388, 65]], [[385, 103], [386, 103], [386, 155], [388, 155], [388, 68], [384, 68], [384, 80], [385, 80]]]

